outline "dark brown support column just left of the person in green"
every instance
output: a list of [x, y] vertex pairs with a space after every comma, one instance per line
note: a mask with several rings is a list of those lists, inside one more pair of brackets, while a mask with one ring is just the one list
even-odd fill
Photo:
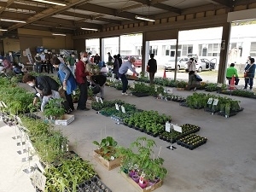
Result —
[[224, 84], [226, 79], [226, 68], [229, 54], [230, 45], [230, 31], [231, 23], [225, 23], [222, 31], [221, 39], [221, 49], [219, 55], [219, 65], [218, 65], [218, 83]]

